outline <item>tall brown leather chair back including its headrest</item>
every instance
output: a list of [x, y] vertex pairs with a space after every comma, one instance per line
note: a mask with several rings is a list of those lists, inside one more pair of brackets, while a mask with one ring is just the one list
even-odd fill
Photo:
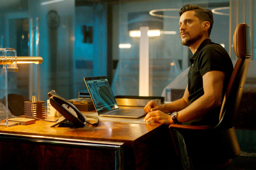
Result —
[[244, 90], [246, 75], [250, 63], [251, 35], [250, 26], [238, 24], [233, 37], [234, 51], [238, 57], [231, 75], [219, 115], [219, 124], [216, 128], [229, 129], [233, 127], [236, 113]]

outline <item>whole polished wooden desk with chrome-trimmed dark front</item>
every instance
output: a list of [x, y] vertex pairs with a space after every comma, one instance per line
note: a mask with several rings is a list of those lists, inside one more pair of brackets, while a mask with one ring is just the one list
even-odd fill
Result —
[[170, 168], [173, 144], [164, 124], [100, 121], [97, 127], [50, 127], [53, 124], [38, 120], [0, 127], [1, 169]]

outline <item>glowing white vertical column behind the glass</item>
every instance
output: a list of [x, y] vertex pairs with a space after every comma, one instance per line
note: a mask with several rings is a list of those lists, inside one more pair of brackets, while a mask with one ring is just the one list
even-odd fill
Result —
[[149, 96], [148, 27], [140, 27], [139, 96]]

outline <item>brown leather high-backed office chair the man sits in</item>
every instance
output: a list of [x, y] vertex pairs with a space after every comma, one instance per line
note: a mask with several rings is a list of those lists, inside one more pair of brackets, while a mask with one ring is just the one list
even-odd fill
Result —
[[234, 121], [244, 89], [251, 52], [250, 27], [239, 24], [233, 37], [238, 57], [215, 127], [171, 124], [176, 153], [184, 169], [227, 169], [240, 154]]

